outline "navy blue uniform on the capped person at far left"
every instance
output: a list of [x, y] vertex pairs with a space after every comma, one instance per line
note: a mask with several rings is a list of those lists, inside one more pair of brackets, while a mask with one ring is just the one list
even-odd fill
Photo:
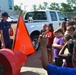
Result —
[[9, 22], [3, 22], [3, 20], [0, 22], [0, 30], [3, 31], [3, 37], [4, 42], [6, 44], [10, 44], [10, 35], [9, 35], [9, 28], [11, 27], [11, 24]]

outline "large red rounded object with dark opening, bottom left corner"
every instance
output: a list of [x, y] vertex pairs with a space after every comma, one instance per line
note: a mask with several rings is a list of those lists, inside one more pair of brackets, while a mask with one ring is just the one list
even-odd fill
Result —
[[19, 75], [26, 62], [26, 55], [10, 49], [0, 50], [0, 75]]

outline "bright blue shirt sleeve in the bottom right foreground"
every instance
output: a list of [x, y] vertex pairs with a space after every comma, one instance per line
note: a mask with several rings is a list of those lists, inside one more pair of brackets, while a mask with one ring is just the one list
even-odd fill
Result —
[[48, 75], [76, 75], [76, 68], [58, 67], [48, 64], [46, 70]]

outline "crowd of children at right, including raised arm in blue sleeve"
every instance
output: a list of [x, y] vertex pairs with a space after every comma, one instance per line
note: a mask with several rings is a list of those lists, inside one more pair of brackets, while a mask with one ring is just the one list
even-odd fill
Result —
[[76, 17], [73, 21], [63, 21], [61, 27], [56, 30], [53, 30], [52, 24], [43, 24], [38, 40], [42, 65], [48, 75], [75, 75]]

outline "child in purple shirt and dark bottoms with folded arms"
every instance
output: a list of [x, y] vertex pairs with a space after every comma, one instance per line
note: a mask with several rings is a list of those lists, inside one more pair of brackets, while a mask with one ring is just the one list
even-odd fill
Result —
[[52, 47], [54, 48], [55, 65], [62, 66], [63, 61], [58, 56], [59, 51], [61, 50], [61, 48], [64, 45], [62, 29], [59, 28], [59, 29], [55, 30], [54, 35], [55, 35], [55, 38], [54, 38], [54, 42], [53, 42]]

